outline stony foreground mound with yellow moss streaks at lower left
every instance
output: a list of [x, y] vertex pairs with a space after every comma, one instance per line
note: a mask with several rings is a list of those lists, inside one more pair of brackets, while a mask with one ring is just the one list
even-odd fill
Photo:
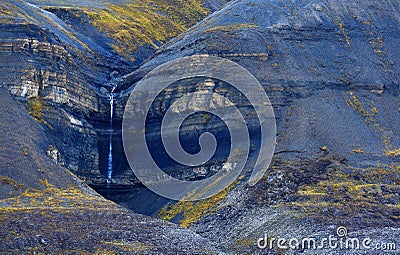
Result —
[[43, 128], [0, 89], [1, 254], [211, 254], [213, 244], [97, 195], [46, 155]]

